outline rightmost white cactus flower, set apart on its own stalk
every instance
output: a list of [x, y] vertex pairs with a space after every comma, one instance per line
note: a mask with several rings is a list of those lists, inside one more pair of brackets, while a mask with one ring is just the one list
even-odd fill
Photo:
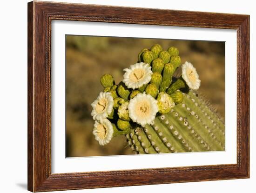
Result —
[[198, 73], [195, 67], [190, 62], [185, 62], [182, 65], [182, 78], [192, 90], [197, 90], [200, 87], [201, 80], [199, 80]]

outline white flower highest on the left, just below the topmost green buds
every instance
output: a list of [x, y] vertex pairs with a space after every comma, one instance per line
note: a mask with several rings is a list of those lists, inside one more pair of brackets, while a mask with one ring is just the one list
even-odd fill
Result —
[[128, 88], [139, 88], [145, 84], [148, 84], [151, 80], [151, 71], [150, 65], [144, 62], [136, 63], [131, 65], [129, 68], [125, 68], [123, 77], [123, 82]]

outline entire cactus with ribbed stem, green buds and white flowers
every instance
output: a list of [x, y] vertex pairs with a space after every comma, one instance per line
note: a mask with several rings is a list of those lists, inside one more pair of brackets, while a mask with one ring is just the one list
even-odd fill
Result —
[[181, 65], [176, 47], [145, 48], [119, 84], [110, 74], [100, 81], [91, 115], [101, 146], [125, 135], [135, 153], [224, 150], [224, 123], [200, 97], [199, 75], [190, 62]]

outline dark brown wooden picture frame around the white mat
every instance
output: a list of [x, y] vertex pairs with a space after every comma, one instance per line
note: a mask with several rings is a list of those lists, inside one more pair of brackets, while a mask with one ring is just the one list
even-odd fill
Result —
[[[157, 13], [158, 17], [155, 17]], [[237, 30], [237, 164], [51, 173], [51, 21]], [[249, 15], [33, 1], [28, 3], [28, 190], [249, 178]]]

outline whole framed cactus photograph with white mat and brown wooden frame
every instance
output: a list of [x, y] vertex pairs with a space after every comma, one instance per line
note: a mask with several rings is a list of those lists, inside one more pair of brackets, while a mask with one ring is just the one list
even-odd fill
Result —
[[28, 190], [249, 178], [249, 15], [28, 3]]

